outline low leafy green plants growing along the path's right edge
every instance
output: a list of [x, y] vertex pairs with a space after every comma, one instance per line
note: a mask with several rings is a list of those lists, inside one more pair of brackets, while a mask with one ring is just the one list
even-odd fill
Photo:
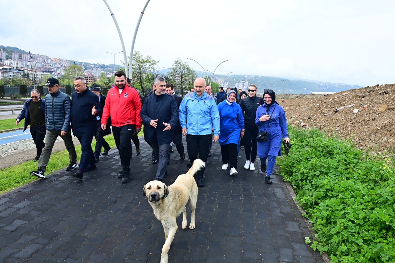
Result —
[[394, 160], [371, 159], [318, 130], [289, 129], [292, 148], [278, 158], [279, 173], [317, 233], [312, 248], [332, 263], [394, 262]]

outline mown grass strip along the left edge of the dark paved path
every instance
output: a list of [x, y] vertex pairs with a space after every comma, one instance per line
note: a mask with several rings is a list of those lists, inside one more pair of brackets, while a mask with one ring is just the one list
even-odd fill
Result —
[[[139, 137], [143, 135], [143, 130], [139, 132]], [[105, 136], [105, 141], [110, 145], [111, 148], [115, 147], [115, 141], [112, 134]], [[96, 141], [92, 141], [92, 148], [94, 149]], [[132, 144], [132, 147], [134, 145]], [[75, 146], [75, 151], [77, 152], [77, 162], [81, 158], [81, 145]], [[62, 150], [60, 152], [54, 152], [51, 154], [49, 163], [47, 166], [47, 171], [45, 175], [49, 175], [55, 171], [63, 169], [70, 164], [69, 154], [67, 150]], [[37, 179], [37, 177], [31, 176], [30, 171], [37, 170], [37, 162], [29, 161], [14, 165], [5, 169], [0, 170], [0, 194], [6, 193], [14, 188], [22, 186], [28, 182], [32, 182]], [[72, 176], [72, 174], [70, 174]], [[39, 179], [41, 180], [41, 179]]]

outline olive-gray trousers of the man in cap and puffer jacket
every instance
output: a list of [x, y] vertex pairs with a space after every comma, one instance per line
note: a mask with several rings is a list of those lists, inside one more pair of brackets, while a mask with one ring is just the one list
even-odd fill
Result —
[[[47, 135], [45, 135], [45, 146], [43, 148], [43, 152], [40, 155], [40, 159], [38, 160], [38, 168], [45, 172], [47, 169], [47, 165], [49, 162], [49, 157], [51, 157], [52, 148], [55, 144], [56, 139], [60, 136], [61, 131], [49, 131], [47, 130]], [[71, 139], [71, 132], [66, 133], [62, 137], [64, 141], [64, 146], [66, 146], [67, 151], [69, 152], [70, 163], [77, 163], [77, 153], [75, 152], [75, 147], [73, 140]]]

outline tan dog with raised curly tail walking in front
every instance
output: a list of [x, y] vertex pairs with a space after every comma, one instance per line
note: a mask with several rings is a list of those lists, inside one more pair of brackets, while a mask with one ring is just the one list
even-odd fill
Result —
[[154, 214], [162, 222], [166, 242], [162, 248], [160, 263], [167, 263], [167, 252], [177, 231], [176, 218], [182, 212], [182, 229], [186, 227], [186, 203], [192, 210], [190, 229], [195, 228], [195, 208], [198, 201], [198, 186], [194, 175], [205, 167], [205, 163], [196, 159], [185, 175], [179, 175], [174, 184], [166, 186], [163, 182], [150, 181], [143, 188], [143, 195], [147, 196], [149, 204], [154, 209]]

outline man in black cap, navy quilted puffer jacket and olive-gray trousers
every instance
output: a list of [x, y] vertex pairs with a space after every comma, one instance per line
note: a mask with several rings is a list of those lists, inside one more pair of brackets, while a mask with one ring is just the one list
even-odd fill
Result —
[[47, 169], [49, 158], [56, 139], [60, 136], [64, 141], [64, 146], [69, 152], [70, 165], [66, 171], [74, 170], [78, 167], [77, 153], [73, 140], [71, 139], [70, 96], [59, 90], [59, 81], [56, 78], [47, 79], [45, 86], [48, 87], [49, 94], [45, 96], [45, 146], [38, 160], [37, 171], [31, 171], [30, 175], [38, 178], [45, 178], [44, 173]]

